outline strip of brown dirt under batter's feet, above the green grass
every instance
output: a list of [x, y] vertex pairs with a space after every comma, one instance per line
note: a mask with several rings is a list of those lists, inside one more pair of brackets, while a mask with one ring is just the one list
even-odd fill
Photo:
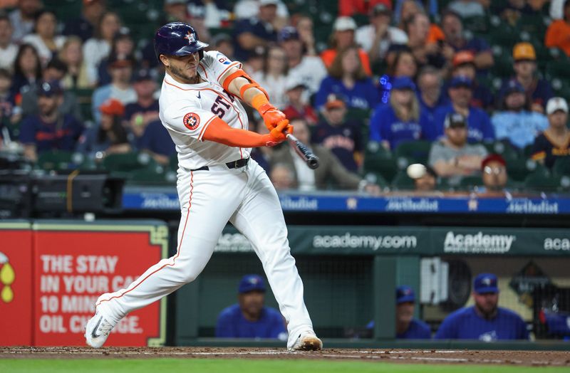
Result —
[[570, 367], [570, 352], [559, 351], [471, 351], [471, 350], [348, 350], [325, 349], [321, 352], [287, 352], [284, 349], [230, 347], [0, 347], [0, 359], [144, 359], [177, 357], [189, 359], [337, 359], [378, 360], [405, 363], [508, 364]]

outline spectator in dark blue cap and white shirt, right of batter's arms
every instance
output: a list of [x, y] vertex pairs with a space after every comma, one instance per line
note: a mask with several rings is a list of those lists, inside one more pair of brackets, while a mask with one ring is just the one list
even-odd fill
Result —
[[292, 26], [286, 26], [279, 32], [279, 44], [285, 50], [289, 63], [287, 80], [301, 80], [307, 88], [306, 98], [317, 93], [321, 81], [326, 77], [321, 58], [304, 55], [301, 36]]

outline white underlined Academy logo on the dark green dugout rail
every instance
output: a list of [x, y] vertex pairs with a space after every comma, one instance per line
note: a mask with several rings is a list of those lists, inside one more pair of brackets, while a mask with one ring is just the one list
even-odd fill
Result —
[[507, 253], [517, 236], [512, 234], [459, 234], [448, 231], [445, 235], [445, 253]]

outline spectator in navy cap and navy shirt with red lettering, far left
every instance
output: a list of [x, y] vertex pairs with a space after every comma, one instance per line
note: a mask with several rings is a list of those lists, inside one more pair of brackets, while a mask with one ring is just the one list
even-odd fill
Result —
[[83, 125], [73, 115], [62, 115], [63, 91], [57, 82], [38, 85], [38, 115], [25, 117], [20, 125], [24, 157], [35, 162], [38, 154], [51, 150], [72, 152], [83, 132]]

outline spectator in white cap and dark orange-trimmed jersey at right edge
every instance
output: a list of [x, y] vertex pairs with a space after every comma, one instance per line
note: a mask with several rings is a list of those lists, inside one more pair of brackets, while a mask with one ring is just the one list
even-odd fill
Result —
[[532, 159], [552, 168], [556, 159], [570, 156], [570, 130], [566, 126], [568, 103], [564, 98], [551, 98], [546, 103], [546, 115], [549, 127], [534, 139]]

